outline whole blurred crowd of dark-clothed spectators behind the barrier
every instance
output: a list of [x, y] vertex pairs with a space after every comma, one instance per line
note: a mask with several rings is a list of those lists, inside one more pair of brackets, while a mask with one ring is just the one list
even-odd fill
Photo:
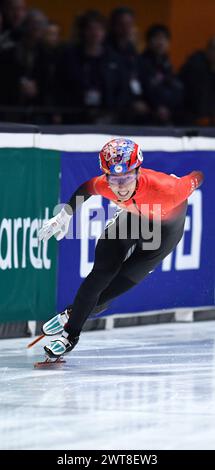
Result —
[[0, 2], [0, 121], [35, 124], [215, 124], [215, 37], [180, 70], [171, 31], [153, 24], [144, 48], [135, 13], [77, 17], [70, 39], [25, 0]]

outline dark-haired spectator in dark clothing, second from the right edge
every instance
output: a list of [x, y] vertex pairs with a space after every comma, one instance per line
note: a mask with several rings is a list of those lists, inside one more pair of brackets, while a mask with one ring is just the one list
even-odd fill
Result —
[[153, 110], [151, 124], [172, 124], [181, 117], [183, 85], [174, 75], [169, 59], [170, 31], [152, 25], [146, 33], [146, 50], [141, 56], [142, 87]]

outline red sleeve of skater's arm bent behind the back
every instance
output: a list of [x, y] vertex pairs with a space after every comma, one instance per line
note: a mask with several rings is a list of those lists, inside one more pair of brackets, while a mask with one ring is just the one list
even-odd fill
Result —
[[182, 178], [174, 178], [172, 190], [175, 206], [185, 201], [195, 189], [201, 186], [203, 180], [204, 175], [201, 171], [192, 171]]

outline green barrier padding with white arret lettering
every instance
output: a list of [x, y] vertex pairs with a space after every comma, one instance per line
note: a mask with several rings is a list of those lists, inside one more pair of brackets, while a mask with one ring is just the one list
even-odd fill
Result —
[[37, 231], [58, 202], [59, 161], [59, 152], [0, 148], [0, 321], [56, 309], [57, 245], [38, 246]]

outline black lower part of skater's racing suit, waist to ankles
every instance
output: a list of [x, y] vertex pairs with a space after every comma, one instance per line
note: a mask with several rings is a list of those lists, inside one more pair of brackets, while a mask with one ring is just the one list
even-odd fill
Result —
[[[119, 211], [98, 240], [93, 269], [81, 284], [72, 313], [66, 325], [71, 336], [79, 335], [95, 308], [126, 292], [144, 277], [176, 247], [183, 235], [186, 207], [174, 221], [162, 223], [161, 241], [156, 249], [143, 249], [144, 235], [132, 233], [133, 223], [140, 218]], [[126, 237], [121, 238], [126, 227]], [[120, 232], [120, 233], [119, 233]]]

